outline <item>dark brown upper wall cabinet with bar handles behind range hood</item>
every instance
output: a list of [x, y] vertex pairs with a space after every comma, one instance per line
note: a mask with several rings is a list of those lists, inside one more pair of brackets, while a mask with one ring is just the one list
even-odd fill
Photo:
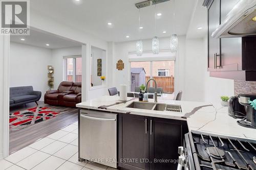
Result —
[[211, 37], [239, 0], [205, 0], [208, 10], [208, 71], [211, 77], [256, 81], [256, 36]]

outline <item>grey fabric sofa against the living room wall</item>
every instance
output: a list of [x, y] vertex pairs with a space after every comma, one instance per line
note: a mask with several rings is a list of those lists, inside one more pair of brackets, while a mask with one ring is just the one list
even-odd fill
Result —
[[37, 104], [40, 98], [41, 91], [34, 91], [32, 86], [10, 87], [10, 107], [31, 102]]

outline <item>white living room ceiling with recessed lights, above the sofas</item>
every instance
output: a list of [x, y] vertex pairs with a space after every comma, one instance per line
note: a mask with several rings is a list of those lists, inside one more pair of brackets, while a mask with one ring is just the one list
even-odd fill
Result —
[[[25, 40], [24, 41], [20, 40], [22, 38], [24, 38]], [[79, 43], [79, 42], [69, 40], [66, 38], [62, 38], [62, 37], [58, 37], [56, 35], [42, 32], [42, 31], [35, 30], [35, 29], [30, 29], [29, 36], [15, 35], [15, 36], [11, 36], [10, 40], [12, 42], [18, 42], [18, 43], [23, 43], [23, 44], [33, 45], [33, 46], [50, 48], [50, 49], [65, 48], [65, 47], [81, 45], [81, 43]], [[47, 46], [46, 44], [49, 44], [49, 46]]]

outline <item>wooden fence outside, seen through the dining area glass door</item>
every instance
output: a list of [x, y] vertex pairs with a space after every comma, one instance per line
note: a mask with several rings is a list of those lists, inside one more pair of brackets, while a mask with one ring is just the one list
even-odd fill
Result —
[[[150, 76], [146, 76], [146, 82], [150, 79]], [[174, 92], [174, 77], [172, 76], [153, 76], [153, 79], [157, 82], [157, 87], [163, 87], [164, 93]], [[153, 83], [155, 87], [155, 83]]]

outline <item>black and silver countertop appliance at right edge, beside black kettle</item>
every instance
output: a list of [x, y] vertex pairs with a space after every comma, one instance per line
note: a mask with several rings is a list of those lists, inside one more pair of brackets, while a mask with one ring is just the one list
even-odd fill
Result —
[[238, 124], [247, 128], [256, 129], [256, 111], [250, 105], [249, 101], [256, 99], [256, 95], [253, 94], [239, 94], [239, 103], [246, 108], [246, 117], [242, 120], [238, 120]]

